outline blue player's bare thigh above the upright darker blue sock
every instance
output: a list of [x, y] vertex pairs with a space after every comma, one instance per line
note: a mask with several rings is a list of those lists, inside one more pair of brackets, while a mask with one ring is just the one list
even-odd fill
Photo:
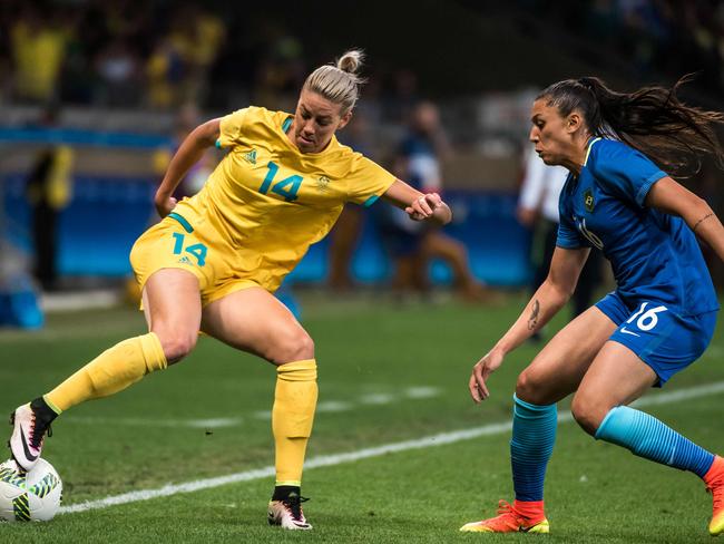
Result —
[[561, 329], [520, 373], [516, 395], [536, 405], [551, 405], [578, 389], [614, 323], [593, 307]]

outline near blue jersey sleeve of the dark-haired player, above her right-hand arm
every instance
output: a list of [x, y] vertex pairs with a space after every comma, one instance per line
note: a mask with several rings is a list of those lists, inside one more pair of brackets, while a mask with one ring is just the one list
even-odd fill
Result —
[[646, 155], [615, 140], [596, 142], [587, 166], [601, 187], [639, 207], [652, 185], [666, 176]]

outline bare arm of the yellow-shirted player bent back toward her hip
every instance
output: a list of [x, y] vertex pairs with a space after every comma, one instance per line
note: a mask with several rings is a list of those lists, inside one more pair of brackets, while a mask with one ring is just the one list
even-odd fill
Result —
[[176, 206], [176, 198], [172, 195], [186, 173], [200, 161], [208, 147], [216, 144], [221, 134], [219, 123], [221, 118], [212, 119], [194, 128], [170, 159], [154, 198], [156, 210], [162, 217], [168, 215]]

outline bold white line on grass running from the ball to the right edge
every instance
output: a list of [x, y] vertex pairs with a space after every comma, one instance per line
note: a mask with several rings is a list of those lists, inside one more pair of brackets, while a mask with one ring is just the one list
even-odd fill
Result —
[[[681, 400], [705, 397], [708, 395], [717, 395], [724, 392], [724, 381], [711, 383], [708, 386], [691, 387], [688, 389], [681, 389], [678, 391], [663, 392], [652, 397], [643, 398], [635, 402], [635, 406], [650, 406], [650, 405], [666, 405], [677, 402]], [[558, 421], [571, 421], [573, 416], [570, 411], [560, 412]], [[404, 440], [401, 443], [385, 444], [374, 448], [359, 449], [346, 454], [323, 455], [313, 457], [304, 464], [305, 469], [329, 467], [342, 465], [344, 463], [353, 463], [361, 459], [370, 459], [372, 457], [380, 457], [387, 454], [395, 454], [400, 451], [409, 451], [411, 449], [424, 449], [432, 446], [443, 446], [446, 444], [454, 444], [462, 440], [470, 440], [481, 436], [501, 435], [510, 431], [512, 428], [511, 421], [483, 425], [482, 427], [474, 427], [472, 429], [456, 430], [452, 433], [441, 433], [439, 435], [428, 436], [413, 440]], [[74, 504], [70, 506], [62, 506], [60, 514], [74, 514], [77, 512], [88, 512], [92, 509], [107, 508], [109, 506], [117, 506], [129, 503], [137, 503], [140, 501], [149, 501], [151, 498], [168, 497], [180, 493], [193, 493], [202, 489], [209, 489], [212, 487], [219, 487], [228, 484], [236, 484], [239, 482], [251, 482], [254, 479], [271, 478], [274, 476], [274, 467], [257, 468], [255, 470], [246, 470], [243, 473], [229, 474], [227, 476], [218, 476], [215, 478], [198, 479], [188, 482], [186, 484], [166, 485], [157, 489], [145, 489], [140, 492], [124, 493], [123, 495], [115, 495], [98, 501], [89, 501], [86, 503]]]

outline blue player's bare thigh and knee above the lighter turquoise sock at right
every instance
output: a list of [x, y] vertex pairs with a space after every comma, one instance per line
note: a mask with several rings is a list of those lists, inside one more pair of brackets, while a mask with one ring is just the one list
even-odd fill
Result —
[[606, 342], [576, 391], [574, 417], [594, 435], [612, 408], [633, 402], [657, 379], [656, 372], [626, 346]]

